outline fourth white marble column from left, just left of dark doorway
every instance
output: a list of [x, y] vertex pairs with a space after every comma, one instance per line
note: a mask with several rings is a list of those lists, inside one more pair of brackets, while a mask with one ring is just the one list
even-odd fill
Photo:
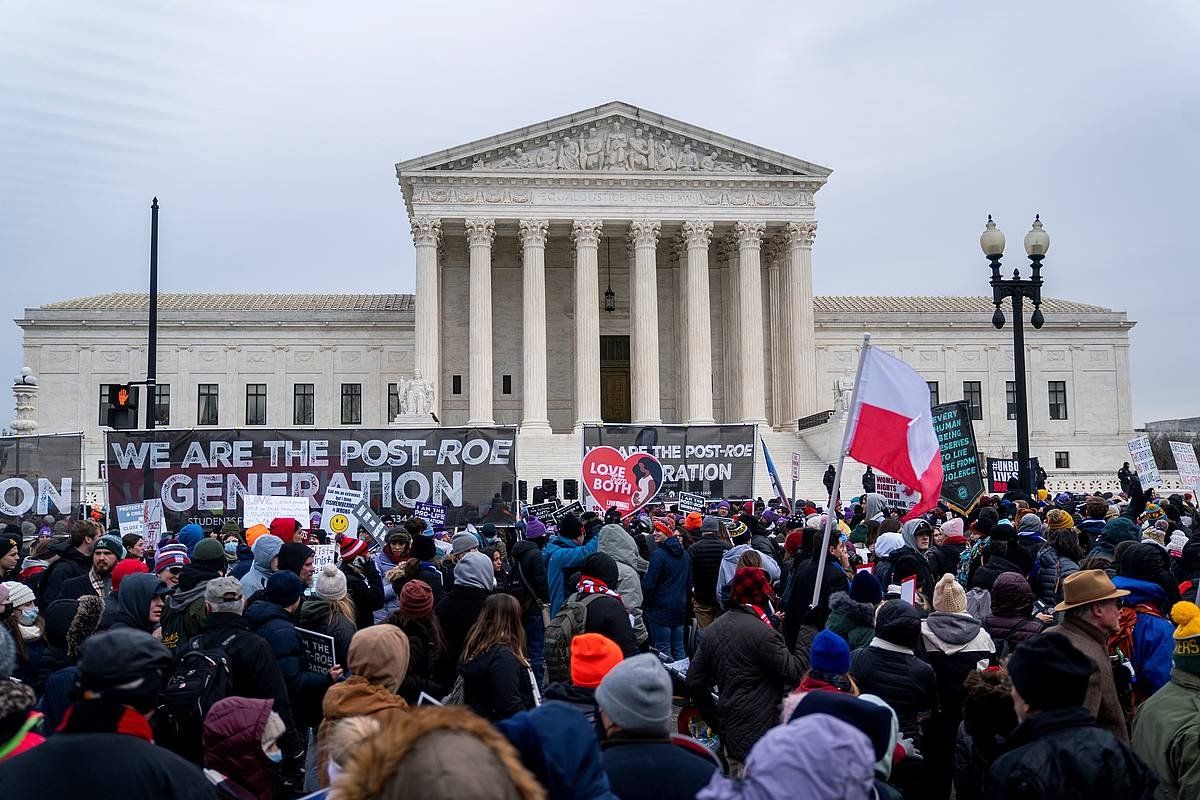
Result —
[[602, 222], [576, 219], [575, 237], [575, 427], [600, 422], [600, 276], [596, 251]]

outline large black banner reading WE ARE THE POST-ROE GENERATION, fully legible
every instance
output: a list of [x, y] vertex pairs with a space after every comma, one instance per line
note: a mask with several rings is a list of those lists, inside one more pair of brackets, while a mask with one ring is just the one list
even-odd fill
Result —
[[[516, 483], [516, 428], [113, 431], [106, 443], [108, 501], [161, 497], [170, 530], [240, 517], [246, 494], [307, 497], [362, 492], [382, 512], [416, 503], [446, 506], [446, 524], [505, 524]], [[361, 518], [360, 518], [361, 519]]]

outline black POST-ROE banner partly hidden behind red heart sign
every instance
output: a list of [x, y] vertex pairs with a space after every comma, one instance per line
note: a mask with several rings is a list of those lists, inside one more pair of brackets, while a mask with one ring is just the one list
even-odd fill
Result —
[[[600, 446], [625, 457], [649, 453], [662, 464], [656, 501], [680, 492], [706, 498], [754, 497], [752, 425], [588, 425], [583, 455]], [[584, 487], [586, 488], [586, 487]]]

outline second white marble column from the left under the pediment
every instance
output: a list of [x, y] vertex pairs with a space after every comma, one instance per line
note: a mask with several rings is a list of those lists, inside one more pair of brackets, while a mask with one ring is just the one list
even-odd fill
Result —
[[467, 383], [467, 425], [494, 425], [492, 411], [492, 241], [496, 219], [466, 219], [470, 246], [470, 378]]

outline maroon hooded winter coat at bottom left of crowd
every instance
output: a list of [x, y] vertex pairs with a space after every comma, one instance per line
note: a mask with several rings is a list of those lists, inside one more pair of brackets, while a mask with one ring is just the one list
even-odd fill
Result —
[[275, 796], [278, 775], [263, 752], [263, 730], [270, 715], [270, 700], [227, 697], [215, 703], [204, 717], [204, 766], [221, 772], [258, 800]]

